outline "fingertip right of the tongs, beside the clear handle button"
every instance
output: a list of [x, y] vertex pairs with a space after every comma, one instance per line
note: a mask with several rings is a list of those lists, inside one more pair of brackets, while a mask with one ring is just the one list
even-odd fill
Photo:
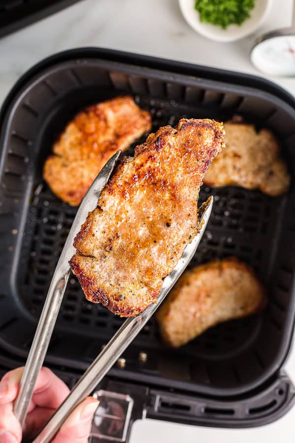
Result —
[[68, 416], [52, 443], [88, 443], [91, 422], [98, 401], [87, 397]]

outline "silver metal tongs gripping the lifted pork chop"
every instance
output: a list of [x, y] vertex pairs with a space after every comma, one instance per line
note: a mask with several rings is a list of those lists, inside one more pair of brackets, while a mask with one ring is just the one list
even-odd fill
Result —
[[[67, 240], [60, 254], [35, 332], [32, 346], [29, 351], [25, 370], [20, 382], [19, 395], [14, 405], [14, 413], [19, 419], [22, 428], [25, 423], [34, 386], [44, 362], [47, 348], [59, 313], [62, 297], [69, 278], [69, 260], [76, 252], [75, 248], [73, 247], [75, 235], [80, 230], [81, 224], [86, 220], [89, 211], [92, 211], [96, 207], [98, 197], [105, 184], [108, 182], [116, 163], [118, 162], [120, 154], [121, 151], [118, 151], [112, 158], [109, 159], [94, 180], [92, 186], [89, 188], [78, 209]], [[211, 196], [199, 209], [199, 232], [193, 238], [191, 243], [186, 246], [174, 270], [163, 280], [163, 286], [157, 299], [157, 303], [150, 305], [138, 316], [129, 317], [125, 320], [114, 337], [109, 341], [109, 343], [89, 366], [88, 370], [84, 373], [81, 379], [73, 387], [68, 397], [60, 405], [59, 409], [54, 413], [37, 437], [33, 440], [33, 443], [47, 443], [54, 438], [60, 426], [69, 416], [69, 414], [95, 389], [99, 381], [103, 379], [106, 373], [118, 360], [122, 352], [134, 340], [139, 331], [145, 326], [149, 318], [160, 306], [196, 252], [207, 226], [207, 221], [211, 214], [212, 204], [213, 197]]]

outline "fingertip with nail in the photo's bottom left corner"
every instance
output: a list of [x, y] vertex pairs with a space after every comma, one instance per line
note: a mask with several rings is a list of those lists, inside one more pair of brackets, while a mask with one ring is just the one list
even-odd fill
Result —
[[17, 443], [21, 440], [22, 428], [12, 411], [12, 403], [0, 405], [0, 443]]

